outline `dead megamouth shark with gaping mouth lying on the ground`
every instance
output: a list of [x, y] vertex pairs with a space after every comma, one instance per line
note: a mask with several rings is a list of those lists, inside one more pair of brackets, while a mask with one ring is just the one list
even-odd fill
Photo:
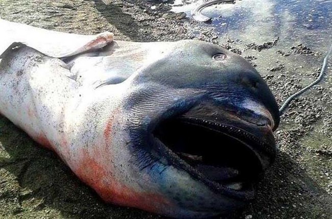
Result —
[[254, 197], [279, 112], [240, 56], [196, 40], [0, 30], [0, 113], [105, 202], [202, 218]]

